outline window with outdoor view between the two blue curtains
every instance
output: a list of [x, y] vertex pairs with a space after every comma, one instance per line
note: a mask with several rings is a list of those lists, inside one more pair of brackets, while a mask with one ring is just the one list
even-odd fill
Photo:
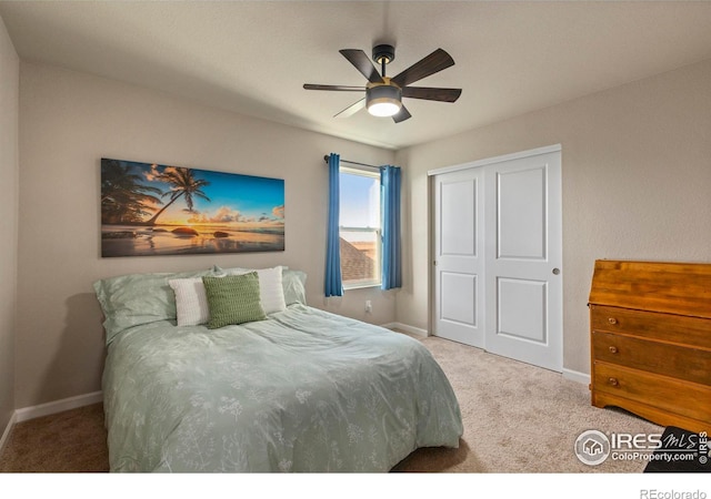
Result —
[[380, 172], [340, 169], [341, 278], [343, 288], [381, 282]]

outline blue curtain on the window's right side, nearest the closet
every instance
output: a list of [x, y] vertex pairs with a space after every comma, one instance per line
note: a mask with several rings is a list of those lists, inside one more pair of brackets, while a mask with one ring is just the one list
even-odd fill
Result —
[[382, 195], [382, 287], [402, 287], [400, 248], [400, 167], [380, 167]]

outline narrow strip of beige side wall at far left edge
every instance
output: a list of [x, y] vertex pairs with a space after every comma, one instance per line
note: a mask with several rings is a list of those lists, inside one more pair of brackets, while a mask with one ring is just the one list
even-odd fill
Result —
[[20, 61], [0, 18], [0, 437], [14, 410]]

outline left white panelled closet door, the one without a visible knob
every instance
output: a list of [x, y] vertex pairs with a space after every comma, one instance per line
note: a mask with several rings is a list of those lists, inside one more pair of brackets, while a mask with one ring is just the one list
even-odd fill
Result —
[[483, 347], [483, 186], [480, 170], [434, 177], [434, 334]]

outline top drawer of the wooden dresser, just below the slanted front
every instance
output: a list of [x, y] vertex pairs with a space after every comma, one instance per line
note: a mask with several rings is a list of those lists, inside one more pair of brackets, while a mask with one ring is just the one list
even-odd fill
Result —
[[711, 350], [711, 320], [655, 312], [590, 305], [592, 330], [622, 333]]

